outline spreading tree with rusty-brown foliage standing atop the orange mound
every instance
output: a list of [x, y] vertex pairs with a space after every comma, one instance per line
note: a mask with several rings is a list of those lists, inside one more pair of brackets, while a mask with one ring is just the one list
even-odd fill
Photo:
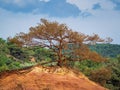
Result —
[[[94, 36], [93, 36], [94, 37]], [[49, 48], [57, 56], [58, 66], [69, 60], [90, 59], [90, 50], [84, 43], [100, 40], [97, 36], [91, 39], [90, 36], [78, 33], [69, 29], [65, 24], [49, 22], [41, 19], [41, 24], [31, 27], [29, 33], [19, 33], [9, 41], [16, 41], [22, 46], [41, 46]], [[98, 54], [95, 54], [100, 57]], [[100, 57], [99, 60], [102, 58]]]

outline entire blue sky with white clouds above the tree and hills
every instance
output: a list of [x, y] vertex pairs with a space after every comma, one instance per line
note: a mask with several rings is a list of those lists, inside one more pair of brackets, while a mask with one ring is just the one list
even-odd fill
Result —
[[0, 38], [27, 33], [41, 18], [120, 44], [120, 0], [0, 0]]

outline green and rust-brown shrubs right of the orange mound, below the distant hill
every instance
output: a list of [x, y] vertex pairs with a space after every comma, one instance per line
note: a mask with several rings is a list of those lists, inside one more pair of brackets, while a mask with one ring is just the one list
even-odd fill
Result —
[[106, 62], [91, 60], [75, 62], [74, 68], [78, 68], [89, 79], [110, 90], [120, 90], [120, 55]]

